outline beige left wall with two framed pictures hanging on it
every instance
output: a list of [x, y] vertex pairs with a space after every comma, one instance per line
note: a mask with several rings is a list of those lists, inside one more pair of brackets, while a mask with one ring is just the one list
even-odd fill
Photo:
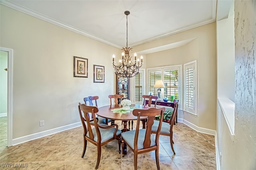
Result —
[[[80, 122], [78, 102], [89, 95], [109, 104], [120, 49], [3, 5], [0, 17], [0, 46], [13, 49], [13, 138]], [[88, 59], [88, 78], [73, 77], [73, 56]], [[105, 83], [93, 83], [94, 64], [105, 66]]]

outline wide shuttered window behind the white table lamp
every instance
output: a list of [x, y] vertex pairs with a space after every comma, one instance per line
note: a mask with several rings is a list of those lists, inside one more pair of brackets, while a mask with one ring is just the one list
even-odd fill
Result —
[[157, 96], [158, 88], [154, 88], [157, 80], [162, 80], [165, 88], [162, 88], [161, 99], [167, 97], [169, 101], [180, 98], [179, 84], [181, 65], [148, 69], [148, 92]]

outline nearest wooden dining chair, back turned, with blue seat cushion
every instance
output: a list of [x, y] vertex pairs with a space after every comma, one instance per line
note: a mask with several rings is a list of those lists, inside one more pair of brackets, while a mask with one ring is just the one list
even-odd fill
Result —
[[[134, 170], [137, 170], [137, 159], [138, 154], [142, 154], [144, 152], [150, 152], [155, 150], [156, 156], [156, 166], [157, 169], [160, 170], [159, 166], [159, 134], [162, 122], [158, 123], [158, 129], [156, 130], [156, 135], [153, 135], [151, 132], [152, 125], [154, 123], [154, 118], [156, 115], [161, 115], [161, 119], [163, 118], [165, 108], [154, 108], [151, 107], [149, 109], [134, 109], [132, 114], [137, 116], [137, 125], [136, 130], [131, 130], [127, 132], [122, 132], [121, 140], [122, 140], [122, 156], [124, 157], [124, 153], [126, 152], [124, 149], [125, 145], [129, 146], [130, 150], [134, 152]], [[146, 123], [146, 129], [140, 129], [140, 117], [148, 117], [148, 121]]]

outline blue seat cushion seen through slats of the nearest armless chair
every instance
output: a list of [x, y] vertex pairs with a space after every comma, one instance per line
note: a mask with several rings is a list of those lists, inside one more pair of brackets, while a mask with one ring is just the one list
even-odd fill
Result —
[[[138, 150], [139, 149], [143, 149], [143, 142], [144, 142], [144, 138], [145, 138], [145, 134], [146, 134], [146, 129], [140, 129], [139, 130], [139, 136], [138, 136]], [[124, 139], [128, 145], [131, 146], [132, 149], [134, 149], [134, 137], [135, 137], [135, 130], [131, 130], [131, 131], [127, 131], [127, 132], [123, 132], [121, 134], [122, 139]], [[155, 146], [156, 145], [156, 138], [155, 135], [150, 136], [150, 146]]]

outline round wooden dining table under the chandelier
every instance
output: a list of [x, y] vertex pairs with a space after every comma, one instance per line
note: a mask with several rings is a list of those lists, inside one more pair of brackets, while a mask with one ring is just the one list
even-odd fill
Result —
[[[144, 105], [130, 105], [130, 107], [136, 107], [135, 109], [148, 109], [148, 106]], [[100, 117], [104, 117], [106, 119], [111, 119], [111, 120], [120, 120], [124, 122], [124, 129], [122, 129], [122, 132], [126, 132], [127, 129], [127, 121], [133, 121], [137, 120], [137, 117], [132, 114], [132, 111], [129, 113], [113, 113], [111, 111], [112, 109], [119, 109], [122, 108], [122, 105], [107, 105], [103, 107], [99, 107], [98, 113], [96, 115]], [[146, 119], [147, 117], [140, 117], [141, 120]], [[107, 122], [107, 121], [106, 121]], [[145, 123], [143, 123], [145, 124]]]

